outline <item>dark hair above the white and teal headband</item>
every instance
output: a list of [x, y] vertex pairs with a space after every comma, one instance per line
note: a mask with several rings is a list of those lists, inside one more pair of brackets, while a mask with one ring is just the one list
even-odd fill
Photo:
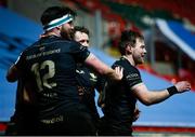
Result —
[[51, 6], [48, 8], [41, 15], [41, 23], [42, 26], [48, 25], [51, 20], [54, 20], [56, 18], [60, 18], [66, 14], [70, 14], [73, 17], [75, 17], [77, 14], [75, 11], [73, 11], [69, 8], [66, 6]]

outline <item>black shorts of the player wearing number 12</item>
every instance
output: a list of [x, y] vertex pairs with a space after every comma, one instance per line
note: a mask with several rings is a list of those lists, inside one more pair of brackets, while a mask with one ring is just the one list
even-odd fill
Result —
[[69, 111], [58, 118], [42, 121], [39, 124], [38, 135], [95, 136], [96, 131], [89, 113]]

